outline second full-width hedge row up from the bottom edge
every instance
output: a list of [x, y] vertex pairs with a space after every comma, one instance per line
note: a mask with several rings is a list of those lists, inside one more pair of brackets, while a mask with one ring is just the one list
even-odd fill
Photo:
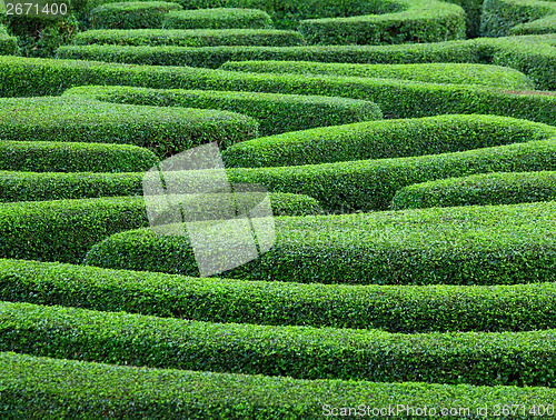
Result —
[[556, 330], [416, 337], [0, 302], [0, 331], [2, 351], [152, 368], [476, 386], [556, 381]]

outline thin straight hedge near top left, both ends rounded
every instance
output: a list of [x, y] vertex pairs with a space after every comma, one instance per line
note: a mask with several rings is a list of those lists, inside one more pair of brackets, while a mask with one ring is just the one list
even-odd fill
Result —
[[[80, 32], [77, 46], [269, 46], [292, 47], [305, 44], [299, 32], [276, 29], [105, 29]], [[73, 47], [78, 48], [78, 47]]]

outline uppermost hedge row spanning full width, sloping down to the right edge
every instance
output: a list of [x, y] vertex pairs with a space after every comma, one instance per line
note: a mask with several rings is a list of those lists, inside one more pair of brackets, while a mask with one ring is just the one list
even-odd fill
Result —
[[257, 91], [371, 100], [388, 118], [486, 113], [554, 123], [556, 117], [555, 96], [510, 94], [480, 87], [407, 80], [257, 74], [192, 68], [13, 58], [9, 61], [0, 59], [0, 70], [6, 74], [0, 81], [0, 93], [4, 96], [61, 93], [67, 88], [83, 84], [123, 84], [159, 89]]

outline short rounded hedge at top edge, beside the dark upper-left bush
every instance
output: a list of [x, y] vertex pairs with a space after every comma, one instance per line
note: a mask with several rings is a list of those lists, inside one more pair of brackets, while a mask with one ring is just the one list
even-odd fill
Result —
[[160, 28], [167, 13], [173, 10], [181, 7], [165, 1], [102, 4], [91, 10], [89, 24], [92, 29]]

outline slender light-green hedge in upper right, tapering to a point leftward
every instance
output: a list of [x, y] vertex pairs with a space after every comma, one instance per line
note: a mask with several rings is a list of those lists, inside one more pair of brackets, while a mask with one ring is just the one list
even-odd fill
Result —
[[229, 61], [221, 66], [220, 70], [405, 79], [430, 83], [484, 84], [508, 90], [535, 89], [535, 84], [524, 73], [507, 67], [486, 64], [348, 64], [317, 61]]

